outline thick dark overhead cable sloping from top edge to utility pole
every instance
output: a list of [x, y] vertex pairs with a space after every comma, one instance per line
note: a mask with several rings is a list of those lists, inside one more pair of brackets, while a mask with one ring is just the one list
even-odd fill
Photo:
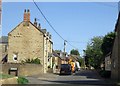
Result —
[[[43, 14], [42, 10], [38, 7], [38, 5], [36, 4], [36, 2], [33, 0], [35, 6], [37, 7], [37, 9], [39, 10], [39, 12], [42, 14], [42, 16], [44, 17], [44, 19], [47, 21], [47, 23], [50, 25], [50, 27], [57, 33], [57, 35], [64, 41], [67, 42], [70, 46], [76, 48], [75, 46], [73, 46], [72, 44], [70, 44], [67, 40], [65, 40], [56, 30], [55, 28], [52, 26], [52, 24], [48, 21], [48, 19], [45, 17], [45, 15]], [[78, 49], [78, 48], [76, 48]]]

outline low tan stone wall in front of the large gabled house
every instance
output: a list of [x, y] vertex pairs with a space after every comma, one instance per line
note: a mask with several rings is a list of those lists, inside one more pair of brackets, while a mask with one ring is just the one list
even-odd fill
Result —
[[[39, 64], [15, 64], [6, 63], [2, 64], [2, 73], [8, 74], [10, 68], [18, 68], [18, 76], [31, 76], [43, 73], [43, 67]], [[15, 75], [14, 73], [11, 73]]]

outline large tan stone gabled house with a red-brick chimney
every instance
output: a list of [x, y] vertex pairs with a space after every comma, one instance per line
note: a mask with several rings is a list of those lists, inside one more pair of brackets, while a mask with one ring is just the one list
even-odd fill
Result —
[[23, 21], [8, 33], [8, 63], [21, 63], [26, 59], [39, 58], [42, 70], [48, 69], [48, 53], [52, 53], [51, 35], [41, 29], [35, 19], [30, 21], [29, 9], [24, 11]]

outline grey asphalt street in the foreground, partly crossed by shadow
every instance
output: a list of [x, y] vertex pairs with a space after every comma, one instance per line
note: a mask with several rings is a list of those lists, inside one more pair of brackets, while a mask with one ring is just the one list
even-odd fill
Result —
[[72, 75], [45, 74], [26, 77], [29, 84], [65, 84], [65, 85], [97, 85], [113, 86], [107, 80], [102, 79], [95, 70], [80, 70]]

